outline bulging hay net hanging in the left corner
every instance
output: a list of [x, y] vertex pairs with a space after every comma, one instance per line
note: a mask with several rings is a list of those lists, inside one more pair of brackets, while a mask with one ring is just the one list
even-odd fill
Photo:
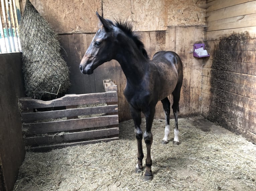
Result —
[[54, 99], [70, 88], [69, 69], [60, 55], [57, 35], [26, 1], [20, 26], [25, 93], [35, 99]]

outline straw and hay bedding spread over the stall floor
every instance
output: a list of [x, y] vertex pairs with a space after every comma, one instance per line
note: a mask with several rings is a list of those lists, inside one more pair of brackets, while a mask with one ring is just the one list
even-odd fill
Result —
[[152, 181], [134, 173], [137, 144], [129, 120], [119, 123], [120, 140], [27, 152], [14, 190], [256, 190], [256, 145], [202, 117], [179, 119], [180, 145], [162, 145], [164, 123], [153, 122]]

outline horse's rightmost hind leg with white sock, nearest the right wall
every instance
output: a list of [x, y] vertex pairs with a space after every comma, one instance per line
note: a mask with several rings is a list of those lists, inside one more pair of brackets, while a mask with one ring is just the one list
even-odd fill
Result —
[[180, 89], [181, 89], [181, 85], [177, 84], [176, 88], [172, 92], [173, 104], [171, 108], [172, 108], [174, 119], [175, 119], [173, 144], [176, 144], [176, 145], [179, 145], [178, 115], [179, 115]]

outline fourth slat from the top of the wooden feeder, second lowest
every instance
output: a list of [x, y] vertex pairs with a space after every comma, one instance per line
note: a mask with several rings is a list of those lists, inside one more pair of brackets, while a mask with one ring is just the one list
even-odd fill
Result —
[[117, 135], [119, 133], [119, 128], [107, 128], [107, 129], [99, 129], [99, 130], [91, 130], [91, 131], [80, 131], [73, 133], [63, 133], [62, 135], [48, 135], [48, 136], [34, 136], [34, 137], [26, 137], [25, 143], [26, 145], [43, 145], [49, 143], [63, 142], [63, 141], [72, 141], [72, 140], [82, 140], [82, 139], [90, 139], [97, 137], [107, 137], [110, 135]]

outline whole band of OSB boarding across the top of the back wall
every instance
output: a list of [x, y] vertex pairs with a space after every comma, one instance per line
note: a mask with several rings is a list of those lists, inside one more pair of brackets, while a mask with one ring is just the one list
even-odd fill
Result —
[[[104, 18], [129, 21], [135, 31], [168, 26], [205, 25], [206, 0], [30, 0], [58, 34], [97, 32], [98, 11]], [[22, 0], [24, 7], [25, 0]]]

